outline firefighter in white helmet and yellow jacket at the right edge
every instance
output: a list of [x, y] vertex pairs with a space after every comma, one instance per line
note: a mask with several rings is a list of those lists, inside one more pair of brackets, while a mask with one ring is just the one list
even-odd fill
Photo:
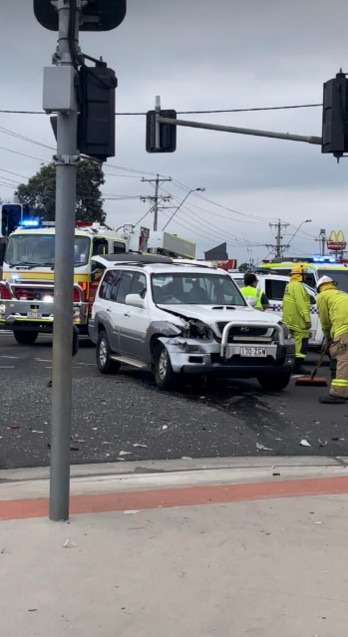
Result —
[[348, 294], [337, 290], [337, 283], [322, 276], [317, 283], [317, 308], [330, 357], [336, 359], [336, 376], [330, 393], [321, 403], [343, 404], [348, 400]]

